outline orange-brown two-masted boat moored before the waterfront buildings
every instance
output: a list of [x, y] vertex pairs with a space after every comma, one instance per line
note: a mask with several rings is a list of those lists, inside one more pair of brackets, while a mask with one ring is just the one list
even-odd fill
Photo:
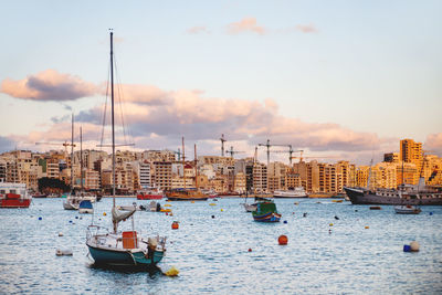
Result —
[[[182, 137], [182, 167], [185, 164], [185, 137]], [[186, 172], [183, 171], [183, 188], [177, 188], [166, 191], [166, 197], [170, 201], [207, 201], [209, 196], [198, 188], [198, 169], [197, 169], [197, 146], [194, 146], [194, 186], [196, 188], [186, 188]]]

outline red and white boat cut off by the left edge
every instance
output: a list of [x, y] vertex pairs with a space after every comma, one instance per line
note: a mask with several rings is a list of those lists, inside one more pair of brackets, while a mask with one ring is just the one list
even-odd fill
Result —
[[31, 199], [27, 185], [0, 182], [0, 208], [28, 208]]

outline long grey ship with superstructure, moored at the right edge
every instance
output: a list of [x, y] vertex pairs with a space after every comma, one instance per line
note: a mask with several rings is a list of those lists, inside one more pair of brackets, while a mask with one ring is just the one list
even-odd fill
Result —
[[402, 185], [398, 189], [344, 188], [352, 204], [442, 206], [442, 192]]

